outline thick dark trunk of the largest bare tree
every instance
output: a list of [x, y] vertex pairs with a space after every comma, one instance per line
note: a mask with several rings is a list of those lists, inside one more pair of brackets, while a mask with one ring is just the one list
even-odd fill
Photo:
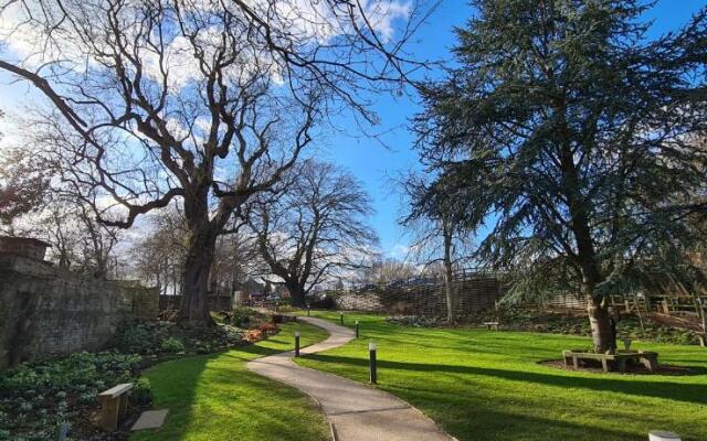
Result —
[[178, 323], [182, 326], [212, 326], [209, 312], [209, 275], [213, 265], [215, 233], [207, 224], [191, 227], [182, 268], [182, 298]]

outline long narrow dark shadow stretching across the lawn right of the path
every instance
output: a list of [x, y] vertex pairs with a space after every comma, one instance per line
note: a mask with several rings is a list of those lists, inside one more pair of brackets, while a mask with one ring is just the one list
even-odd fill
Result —
[[[368, 366], [365, 358], [354, 358], [344, 356], [313, 354], [307, 358], [323, 363]], [[608, 376], [588, 378], [576, 375], [552, 375], [537, 372], [496, 369], [478, 366], [458, 366], [425, 363], [402, 363], [386, 359], [378, 361], [379, 369], [400, 369], [414, 370], [425, 373], [450, 373], [481, 375], [495, 378], [502, 378], [513, 381], [536, 383], [547, 386], [556, 386], [562, 388], [584, 388], [595, 391], [610, 391], [619, 394], [630, 394], [651, 398], [665, 398], [677, 401], [695, 402], [707, 405], [707, 385], [701, 384], [684, 384], [674, 381], [644, 381], [635, 380], [631, 377], [625, 379], [609, 378]], [[699, 368], [697, 368], [699, 369]]]

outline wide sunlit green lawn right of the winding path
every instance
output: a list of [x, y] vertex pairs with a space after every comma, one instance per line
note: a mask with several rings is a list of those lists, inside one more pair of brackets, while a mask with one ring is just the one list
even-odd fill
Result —
[[[316, 315], [338, 322], [338, 313]], [[368, 342], [378, 344], [379, 387], [411, 402], [460, 441], [647, 440], [651, 430], [707, 440], [707, 351], [635, 342], [662, 363], [700, 375], [573, 373], [537, 364], [589, 338], [524, 332], [402, 327], [359, 320], [361, 338], [299, 364], [368, 381]]]

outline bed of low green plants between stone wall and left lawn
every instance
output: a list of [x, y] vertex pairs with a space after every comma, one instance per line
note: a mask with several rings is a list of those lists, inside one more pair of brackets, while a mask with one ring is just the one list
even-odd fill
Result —
[[[143, 369], [167, 359], [241, 347], [278, 330], [271, 316], [252, 309], [218, 319], [219, 324], [210, 329], [182, 329], [170, 322], [125, 323], [110, 342], [110, 351], [25, 363], [0, 373], [0, 440], [53, 440], [64, 422], [77, 439], [126, 439], [129, 424], [151, 401], [150, 380], [140, 377]], [[251, 327], [255, 338], [251, 338]], [[91, 421], [99, 406], [97, 394], [120, 383], [135, 384], [133, 410], [118, 432], [104, 433]]]

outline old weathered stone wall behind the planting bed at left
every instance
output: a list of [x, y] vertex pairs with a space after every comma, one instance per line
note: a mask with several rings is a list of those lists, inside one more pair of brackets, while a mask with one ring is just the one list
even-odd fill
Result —
[[103, 348], [126, 321], [151, 321], [159, 292], [0, 254], [0, 367]]

